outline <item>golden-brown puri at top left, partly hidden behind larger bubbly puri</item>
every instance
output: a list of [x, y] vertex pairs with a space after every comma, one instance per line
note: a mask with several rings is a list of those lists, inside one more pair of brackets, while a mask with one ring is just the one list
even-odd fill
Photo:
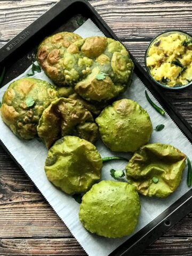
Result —
[[74, 33], [60, 32], [45, 38], [38, 46], [37, 61], [55, 84], [67, 85], [65, 76], [63, 76], [63, 54], [71, 43], [81, 38]]

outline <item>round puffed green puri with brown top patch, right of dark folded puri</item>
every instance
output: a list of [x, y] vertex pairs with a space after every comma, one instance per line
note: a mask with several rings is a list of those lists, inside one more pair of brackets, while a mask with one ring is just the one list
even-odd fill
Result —
[[149, 141], [153, 131], [147, 111], [128, 99], [103, 109], [95, 122], [103, 143], [112, 151], [134, 152]]

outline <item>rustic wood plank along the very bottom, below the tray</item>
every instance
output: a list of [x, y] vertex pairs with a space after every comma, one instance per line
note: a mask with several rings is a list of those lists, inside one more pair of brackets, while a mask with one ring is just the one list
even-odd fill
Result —
[[[191, 256], [192, 239], [159, 239], [148, 246], [141, 256]], [[1, 239], [1, 255], [87, 255], [75, 239]], [[99, 255], [100, 256], [100, 255]]]

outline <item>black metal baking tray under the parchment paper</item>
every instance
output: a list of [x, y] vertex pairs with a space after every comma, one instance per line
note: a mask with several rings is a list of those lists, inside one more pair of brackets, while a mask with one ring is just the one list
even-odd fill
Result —
[[[80, 17], [83, 17], [84, 19], [90, 18], [107, 37], [118, 40], [117, 36], [88, 2], [85, 0], [61, 0], [2, 47], [0, 50], [0, 67], [6, 67], [3, 85], [23, 73], [23, 71], [31, 65], [30, 57], [44, 37], [59, 31], [74, 31], [78, 28], [77, 19]], [[134, 61], [135, 73], [192, 143], [191, 126], [169, 100], [166, 99], [163, 94], [163, 89], [160, 89], [160, 87], [156, 86], [154, 82], [151, 81], [146, 71], [139, 65], [132, 55], [131, 58]], [[10, 154], [9, 150], [5, 148], [1, 141], [0, 143], [7, 153]], [[13, 156], [11, 157], [15, 163], [18, 164], [17, 159], [14, 159]], [[19, 167], [23, 170], [21, 166]], [[127, 239], [125, 243], [119, 246], [114, 252], [110, 253], [110, 256], [139, 255], [146, 246], [162, 236], [166, 230], [185, 217], [191, 210], [192, 189], [156, 219], [151, 221], [146, 227], [138, 231], [137, 234]]]

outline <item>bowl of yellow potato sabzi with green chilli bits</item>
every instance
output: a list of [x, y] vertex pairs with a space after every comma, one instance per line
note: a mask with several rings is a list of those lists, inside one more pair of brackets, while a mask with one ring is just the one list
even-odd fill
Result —
[[182, 30], [156, 36], [145, 53], [150, 78], [166, 89], [178, 90], [192, 84], [192, 37]]

